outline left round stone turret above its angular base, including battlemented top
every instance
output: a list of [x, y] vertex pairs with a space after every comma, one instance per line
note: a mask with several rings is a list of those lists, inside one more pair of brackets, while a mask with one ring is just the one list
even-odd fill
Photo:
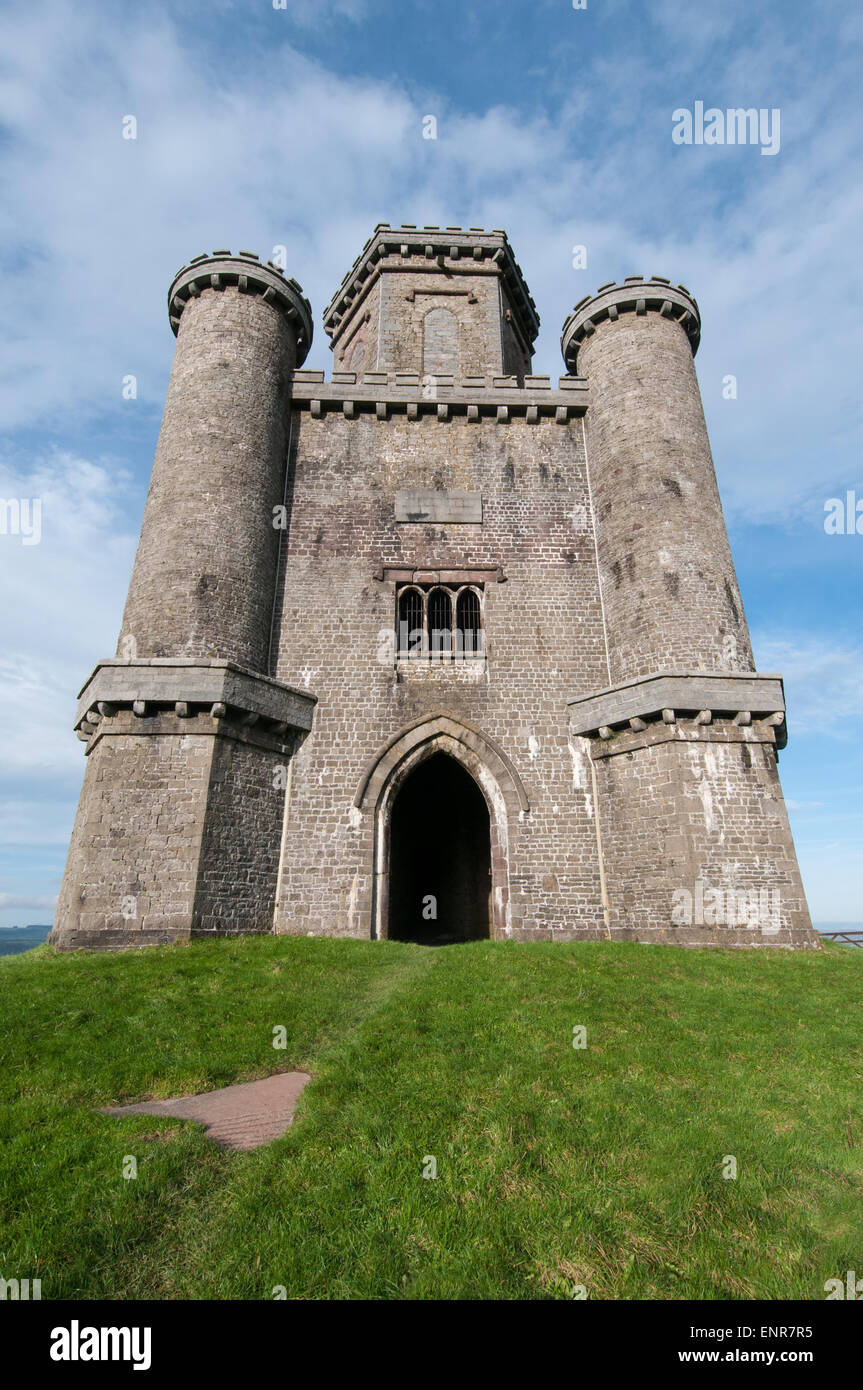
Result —
[[168, 293], [176, 350], [120, 656], [267, 670], [300, 286], [250, 252], [197, 256]]

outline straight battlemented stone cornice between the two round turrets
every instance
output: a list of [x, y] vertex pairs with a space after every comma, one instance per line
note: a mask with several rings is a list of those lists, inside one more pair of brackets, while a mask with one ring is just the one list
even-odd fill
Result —
[[504, 424], [524, 416], [529, 424], [546, 417], [566, 424], [588, 407], [588, 384], [581, 377], [561, 377], [554, 391], [550, 377], [525, 377], [520, 386], [516, 377], [420, 377], [410, 371], [357, 377], [336, 371], [332, 381], [324, 381], [322, 371], [296, 371], [290, 393], [293, 407], [310, 410], [315, 418], [340, 410], [349, 420], [361, 413], [384, 420], [402, 413], [410, 420], [467, 414], [468, 420], [491, 416]]

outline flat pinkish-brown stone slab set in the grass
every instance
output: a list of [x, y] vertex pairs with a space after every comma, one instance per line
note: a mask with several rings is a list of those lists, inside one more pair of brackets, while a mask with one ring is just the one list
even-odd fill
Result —
[[200, 1095], [106, 1106], [101, 1113], [170, 1115], [178, 1120], [197, 1120], [207, 1137], [224, 1148], [258, 1148], [285, 1133], [310, 1080], [307, 1072], [281, 1072], [263, 1081], [243, 1081]]

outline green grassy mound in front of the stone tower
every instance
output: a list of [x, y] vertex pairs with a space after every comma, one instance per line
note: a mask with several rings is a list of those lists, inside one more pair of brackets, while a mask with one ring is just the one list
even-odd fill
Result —
[[[43, 1298], [824, 1298], [863, 1269], [862, 995], [842, 947], [0, 959], [0, 1275]], [[293, 1127], [250, 1154], [96, 1112], [295, 1066]]]

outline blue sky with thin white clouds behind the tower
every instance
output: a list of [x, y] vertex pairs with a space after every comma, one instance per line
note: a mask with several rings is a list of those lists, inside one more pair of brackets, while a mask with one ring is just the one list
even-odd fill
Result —
[[[40, 498], [43, 518], [39, 545], [0, 535], [0, 923], [50, 920], [63, 874], [71, 716], [117, 641], [174, 272], [285, 245], [315, 311], [307, 366], [329, 371], [321, 311], [378, 221], [504, 227], [553, 377], [598, 285], [659, 274], [696, 295], [756, 660], [785, 674], [813, 917], [863, 920], [863, 535], [824, 531], [828, 498], [863, 499], [862, 49], [846, 0], [6, 7], [0, 496]], [[780, 108], [780, 152], [675, 145], [695, 101]]]

